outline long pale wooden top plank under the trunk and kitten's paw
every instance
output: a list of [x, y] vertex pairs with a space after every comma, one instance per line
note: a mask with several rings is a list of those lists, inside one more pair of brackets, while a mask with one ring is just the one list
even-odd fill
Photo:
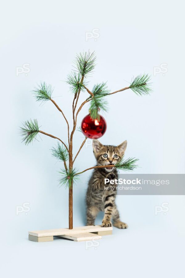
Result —
[[31, 231], [28, 234], [36, 236], [36, 237], [46, 237], [46, 236], [59, 236], [65, 234], [78, 234], [78, 233], [93, 233], [93, 232], [101, 232], [101, 231], [112, 231], [113, 227], [101, 227], [101, 225], [94, 226], [83, 226], [83, 227], [75, 227], [72, 230], [68, 228], [64, 229], [52, 229], [52, 230], [40, 230], [40, 231]]

